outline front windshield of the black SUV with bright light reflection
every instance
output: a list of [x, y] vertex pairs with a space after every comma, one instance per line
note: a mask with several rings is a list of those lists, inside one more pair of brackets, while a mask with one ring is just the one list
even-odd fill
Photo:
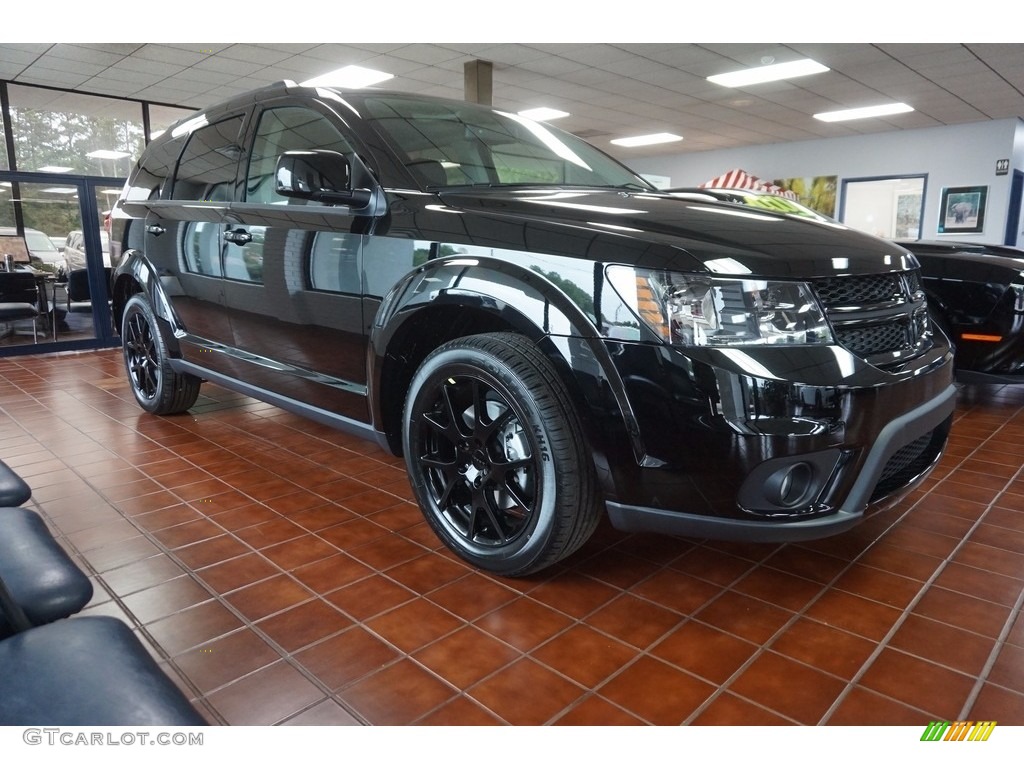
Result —
[[429, 188], [544, 184], [653, 187], [575, 136], [489, 106], [371, 96], [364, 117]]

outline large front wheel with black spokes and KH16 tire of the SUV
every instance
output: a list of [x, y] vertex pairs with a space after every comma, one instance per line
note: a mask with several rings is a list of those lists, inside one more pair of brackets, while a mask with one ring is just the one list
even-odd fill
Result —
[[599, 517], [593, 462], [564, 385], [516, 334], [457, 339], [413, 377], [406, 465], [441, 541], [502, 575], [567, 557]]

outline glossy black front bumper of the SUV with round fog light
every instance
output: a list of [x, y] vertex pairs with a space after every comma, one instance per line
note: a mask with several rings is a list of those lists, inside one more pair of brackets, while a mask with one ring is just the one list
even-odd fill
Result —
[[885, 371], [835, 348], [616, 352], [643, 450], [610, 463], [608, 515], [624, 530], [841, 532], [924, 479], [955, 406], [944, 344]]

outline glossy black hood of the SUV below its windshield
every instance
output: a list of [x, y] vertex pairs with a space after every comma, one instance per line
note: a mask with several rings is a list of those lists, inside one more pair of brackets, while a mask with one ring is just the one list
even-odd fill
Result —
[[439, 197], [449, 212], [484, 217], [467, 230], [511, 234], [521, 229], [531, 251], [605, 262], [800, 279], [918, 266], [905, 249], [843, 224], [732, 203], [626, 189], [527, 186], [447, 189]]

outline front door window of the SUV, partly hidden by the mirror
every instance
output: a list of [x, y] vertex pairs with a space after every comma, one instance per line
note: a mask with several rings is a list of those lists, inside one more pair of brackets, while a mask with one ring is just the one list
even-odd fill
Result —
[[[304, 106], [280, 106], [267, 110], [259, 120], [249, 171], [246, 174], [246, 202], [297, 205], [273, 189], [273, 169], [278, 157], [293, 150], [352, 151], [348, 140], [325, 116]], [[307, 205], [319, 205], [307, 203]]]

